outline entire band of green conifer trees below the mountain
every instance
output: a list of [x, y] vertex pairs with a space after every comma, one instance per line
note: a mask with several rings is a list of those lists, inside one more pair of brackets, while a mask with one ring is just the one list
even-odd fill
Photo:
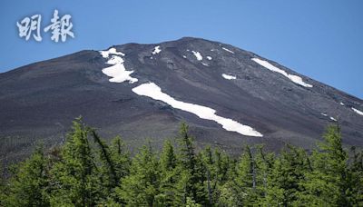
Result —
[[[36, 148], [0, 181], [0, 206], [363, 206], [363, 153], [329, 126], [311, 154], [246, 146], [239, 159], [196, 152], [182, 123], [175, 147], [151, 144], [131, 158], [120, 137], [106, 143], [81, 119], [63, 146]], [[4, 176], [3, 176], [4, 177]]]

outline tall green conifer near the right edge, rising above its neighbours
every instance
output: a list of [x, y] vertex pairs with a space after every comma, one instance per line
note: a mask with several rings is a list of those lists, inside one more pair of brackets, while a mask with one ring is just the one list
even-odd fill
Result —
[[354, 206], [351, 192], [352, 173], [348, 171], [348, 153], [343, 149], [338, 125], [331, 125], [324, 134], [324, 143], [312, 156], [313, 171], [306, 174], [306, 189], [300, 203], [325, 206]]

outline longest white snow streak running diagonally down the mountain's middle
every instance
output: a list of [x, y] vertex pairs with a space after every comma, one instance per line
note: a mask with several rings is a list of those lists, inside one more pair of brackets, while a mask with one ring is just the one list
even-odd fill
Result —
[[248, 125], [243, 125], [231, 119], [217, 115], [214, 109], [198, 104], [189, 104], [175, 100], [170, 95], [163, 93], [162, 89], [156, 84], [141, 84], [137, 87], [132, 88], [132, 92], [135, 94], [150, 97], [154, 100], [162, 101], [166, 104], [170, 104], [173, 108], [180, 109], [189, 113], [194, 113], [201, 119], [211, 120], [216, 123], [220, 123], [221, 126], [227, 131], [240, 133], [246, 136], [263, 136], [262, 133], [255, 131], [252, 127]]

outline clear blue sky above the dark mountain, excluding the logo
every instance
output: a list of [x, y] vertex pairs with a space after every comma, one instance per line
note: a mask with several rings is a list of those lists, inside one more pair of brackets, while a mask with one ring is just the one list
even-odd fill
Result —
[[[75, 38], [25, 41], [16, 22], [54, 9], [72, 15]], [[195, 36], [233, 44], [363, 99], [361, 0], [1, 1], [0, 73], [113, 44], [159, 43]]]

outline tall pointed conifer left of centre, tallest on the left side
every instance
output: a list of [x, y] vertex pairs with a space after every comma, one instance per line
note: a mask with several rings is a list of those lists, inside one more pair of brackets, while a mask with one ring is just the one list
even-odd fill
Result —
[[61, 150], [61, 161], [52, 169], [52, 205], [92, 206], [101, 198], [97, 166], [88, 141], [89, 128], [74, 121]]

